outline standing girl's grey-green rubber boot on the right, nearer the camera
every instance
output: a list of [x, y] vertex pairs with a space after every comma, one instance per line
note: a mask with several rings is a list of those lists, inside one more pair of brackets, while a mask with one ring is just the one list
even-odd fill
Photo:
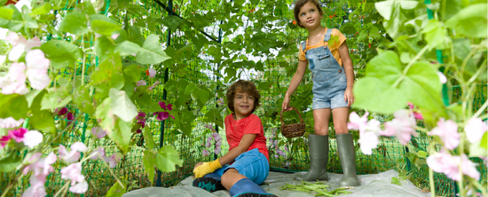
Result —
[[339, 134], [335, 135], [335, 138], [337, 138], [337, 151], [339, 152], [342, 171], [344, 172], [339, 186], [358, 186], [359, 179], [356, 175], [356, 153], [354, 151], [354, 143], [352, 142], [352, 134]]

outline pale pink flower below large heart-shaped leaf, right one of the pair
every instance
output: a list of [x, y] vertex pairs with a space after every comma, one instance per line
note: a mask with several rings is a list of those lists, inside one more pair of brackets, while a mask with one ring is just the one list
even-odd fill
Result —
[[406, 145], [412, 136], [416, 136], [414, 128], [415, 119], [408, 113], [408, 110], [401, 109], [393, 114], [395, 118], [390, 122], [385, 122], [385, 130], [380, 132], [382, 136], [393, 136], [398, 138], [402, 145]]

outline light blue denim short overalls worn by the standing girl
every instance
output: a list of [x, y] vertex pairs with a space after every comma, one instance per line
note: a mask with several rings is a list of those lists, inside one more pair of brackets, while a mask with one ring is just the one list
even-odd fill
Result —
[[[324, 42], [330, 40], [332, 28], [327, 29]], [[302, 43], [303, 51], [306, 42]], [[327, 44], [328, 45], [328, 44]], [[309, 69], [313, 79], [312, 109], [348, 106], [344, 100], [347, 79], [344, 68], [334, 58], [328, 46], [317, 47], [305, 51], [305, 58], [309, 61]]]

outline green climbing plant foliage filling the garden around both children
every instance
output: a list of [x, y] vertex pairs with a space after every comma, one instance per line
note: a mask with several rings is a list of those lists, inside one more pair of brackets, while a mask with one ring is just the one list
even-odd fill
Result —
[[[121, 196], [130, 191], [129, 180], [116, 176], [111, 168], [132, 150], [144, 154], [143, 166], [151, 182], [158, 178], [155, 169], [169, 172], [183, 166], [173, 146], [156, 144], [146, 121], [170, 120], [172, 130], [191, 138], [194, 129], [191, 122], [204, 112], [203, 122], [224, 128], [223, 114], [229, 112], [225, 111], [224, 101], [216, 98], [224, 97], [227, 83], [244, 77], [251, 69], [264, 72], [276, 67], [286, 71], [286, 76], [279, 76], [283, 80], [294, 74], [296, 35], [304, 31], [294, 20], [282, 17], [292, 1], [223, 1], [221, 8], [205, 12], [194, 11], [190, 5], [205, 8], [206, 1], [175, 1], [171, 14], [163, 14], [167, 11], [157, 2], [50, 0], [32, 1], [31, 8], [18, 9], [0, 1], [3, 5], [0, 28], [9, 29], [0, 43], [2, 196], [11, 195], [19, 181], [27, 177], [30, 186], [21, 193], [46, 193], [46, 177], [54, 170], [60, 170], [64, 182], [53, 194], [86, 193], [93, 188], [87, 184], [90, 177], [83, 175], [82, 166], [91, 160], [103, 161], [98, 164], [109, 166], [107, 169], [116, 179], [106, 195]], [[485, 183], [476, 179], [474, 171], [467, 171], [472, 166], [463, 163], [467, 155], [488, 157], [488, 132], [485, 132], [488, 126], [484, 123], [473, 126], [471, 122], [488, 118], [484, 113], [488, 102], [473, 105], [477, 86], [488, 78], [488, 43], [484, 39], [488, 18], [483, 12], [488, 3], [342, 0], [322, 4], [346, 8], [348, 12], [325, 16], [324, 20], [340, 27], [344, 35], [350, 35], [347, 44], [354, 48], [350, 53], [358, 73], [353, 108], [391, 115], [405, 109], [407, 102], [412, 103], [418, 107], [414, 111], [421, 114], [425, 127], [409, 126], [435, 136], [428, 152], [419, 152], [418, 157], [427, 161], [429, 158], [437, 161], [439, 155], [454, 158], [453, 161], [458, 161], [454, 166], [458, 168], [456, 175], [445, 172], [445, 163], [428, 164], [436, 172], [458, 180], [461, 195], [478, 190], [488, 196]], [[354, 25], [357, 23], [362, 23], [363, 28], [357, 29]], [[215, 24], [224, 42], [201, 34]], [[161, 31], [177, 30], [185, 41], [165, 43], [167, 38]], [[244, 33], [234, 35], [237, 31]], [[195, 61], [191, 51], [199, 54], [200, 59], [209, 59], [208, 65], [200, 65], [201, 70], [222, 80], [209, 86], [189, 80], [191, 73], [186, 68], [188, 62]], [[248, 59], [249, 56], [259, 59]], [[168, 73], [178, 77], [146, 82], [145, 71], [149, 78]], [[203, 73], [198, 75], [206, 77]], [[439, 76], [446, 77], [445, 87]], [[271, 91], [281, 90], [282, 85], [264, 79], [257, 87], [259, 91]], [[163, 94], [158, 87], [164, 89], [168, 98], [152, 98], [154, 93]], [[290, 105], [302, 110], [310, 106], [311, 87], [310, 82], [305, 83]], [[460, 97], [452, 97], [452, 90], [458, 90]], [[282, 98], [275, 102], [281, 101]], [[264, 116], [279, 122], [279, 106], [268, 106]], [[296, 114], [285, 115], [286, 121], [297, 120]], [[63, 146], [69, 141], [65, 133], [87, 117], [96, 120], [90, 138], [107, 140], [114, 146], [87, 146], [82, 142]], [[311, 115], [304, 119], [313, 125]], [[446, 141], [449, 138], [436, 131], [444, 122], [456, 125], [459, 145], [452, 147], [452, 141]], [[388, 130], [386, 123], [376, 127], [377, 130], [360, 131], [360, 138], [367, 135], [378, 138], [380, 130]], [[143, 142], [133, 140], [138, 133], [142, 133]], [[472, 135], [479, 137], [471, 140]], [[405, 143], [410, 140], [410, 133], [408, 137]], [[222, 145], [218, 139], [214, 136], [215, 142], [220, 142], [215, 154], [220, 153]], [[284, 143], [273, 142], [279, 146]], [[296, 143], [304, 141], [291, 141]], [[118, 152], [106, 155], [105, 148], [114, 147]], [[361, 148], [367, 147], [362, 144]], [[370, 146], [369, 150], [375, 147]]]

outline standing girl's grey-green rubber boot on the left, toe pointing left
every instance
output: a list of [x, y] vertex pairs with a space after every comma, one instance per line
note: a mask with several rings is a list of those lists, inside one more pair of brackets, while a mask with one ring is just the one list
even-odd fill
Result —
[[310, 169], [306, 174], [295, 173], [295, 180], [327, 180], [328, 135], [309, 134]]

